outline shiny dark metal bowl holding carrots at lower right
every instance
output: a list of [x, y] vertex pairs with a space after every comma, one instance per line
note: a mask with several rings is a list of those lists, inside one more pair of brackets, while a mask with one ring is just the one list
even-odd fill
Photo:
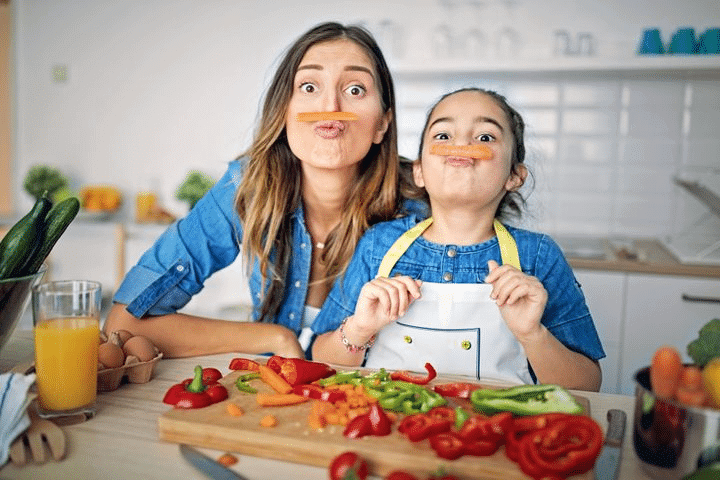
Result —
[[653, 478], [679, 479], [720, 461], [720, 410], [656, 397], [650, 367], [635, 374], [633, 443]]

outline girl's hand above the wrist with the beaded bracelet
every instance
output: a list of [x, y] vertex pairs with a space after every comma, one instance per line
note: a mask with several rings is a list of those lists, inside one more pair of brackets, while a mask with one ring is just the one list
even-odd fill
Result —
[[420, 285], [421, 280], [408, 276], [376, 278], [363, 285], [353, 315], [355, 331], [369, 338], [405, 315], [413, 300], [420, 297]]

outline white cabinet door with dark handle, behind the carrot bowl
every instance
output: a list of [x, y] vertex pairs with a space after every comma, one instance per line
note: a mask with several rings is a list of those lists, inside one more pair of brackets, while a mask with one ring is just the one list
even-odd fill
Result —
[[633, 394], [635, 372], [649, 365], [661, 345], [672, 345], [685, 361], [687, 344], [713, 318], [720, 318], [720, 279], [672, 275], [627, 276], [620, 391]]

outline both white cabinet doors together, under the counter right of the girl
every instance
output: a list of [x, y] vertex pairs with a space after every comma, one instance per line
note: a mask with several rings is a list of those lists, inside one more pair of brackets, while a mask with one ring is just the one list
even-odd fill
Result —
[[687, 344], [720, 318], [720, 279], [575, 270], [607, 357], [602, 392], [634, 395], [634, 375], [658, 347], [689, 362]]

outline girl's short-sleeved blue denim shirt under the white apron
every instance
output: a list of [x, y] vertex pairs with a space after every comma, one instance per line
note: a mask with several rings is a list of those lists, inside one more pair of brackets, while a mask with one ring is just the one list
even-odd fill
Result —
[[[337, 329], [352, 315], [362, 286], [375, 278], [390, 246], [424, 217], [406, 217], [371, 227], [355, 249], [343, 277], [330, 291], [313, 330], [321, 334]], [[580, 284], [560, 247], [547, 235], [507, 227], [515, 239], [522, 271], [537, 277], [548, 292], [542, 324], [569, 349], [598, 360], [605, 356]], [[433, 283], [483, 283], [488, 260], [502, 263], [497, 238], [476, 245], [440, 245], [415, 240], [395, 264], [390, 276], [408, 275]]]

